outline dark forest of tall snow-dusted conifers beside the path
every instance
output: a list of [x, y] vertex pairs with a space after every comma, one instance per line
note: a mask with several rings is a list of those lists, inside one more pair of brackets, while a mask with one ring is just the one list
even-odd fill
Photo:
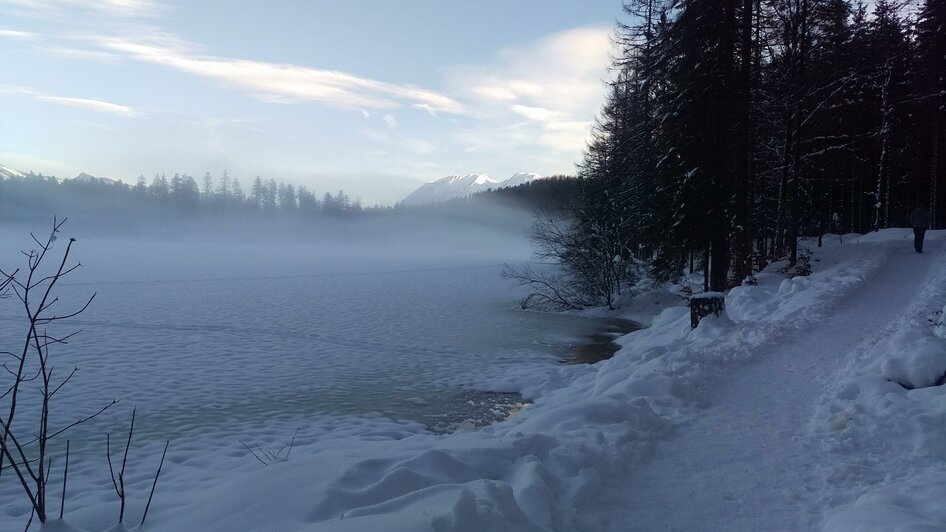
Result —
[[[642, 261], [659, 280], [697, 270], [722, 291], [804, 260], [802, 237], [904, 226], [917, 206], [946, 226], [946, 3], [626, 0], [624, 11], [562, 263], [581, 252], [599, 270]], [[556, 238], [539, 229], [540, 247]], [[623, 285], [639, 271], [620, 272]]]

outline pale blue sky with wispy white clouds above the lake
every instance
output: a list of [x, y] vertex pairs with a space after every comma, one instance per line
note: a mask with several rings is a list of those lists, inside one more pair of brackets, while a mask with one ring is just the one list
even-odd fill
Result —
[[621, 0], [0, 0], [0, 164], [392, 204], [573, 174]]

